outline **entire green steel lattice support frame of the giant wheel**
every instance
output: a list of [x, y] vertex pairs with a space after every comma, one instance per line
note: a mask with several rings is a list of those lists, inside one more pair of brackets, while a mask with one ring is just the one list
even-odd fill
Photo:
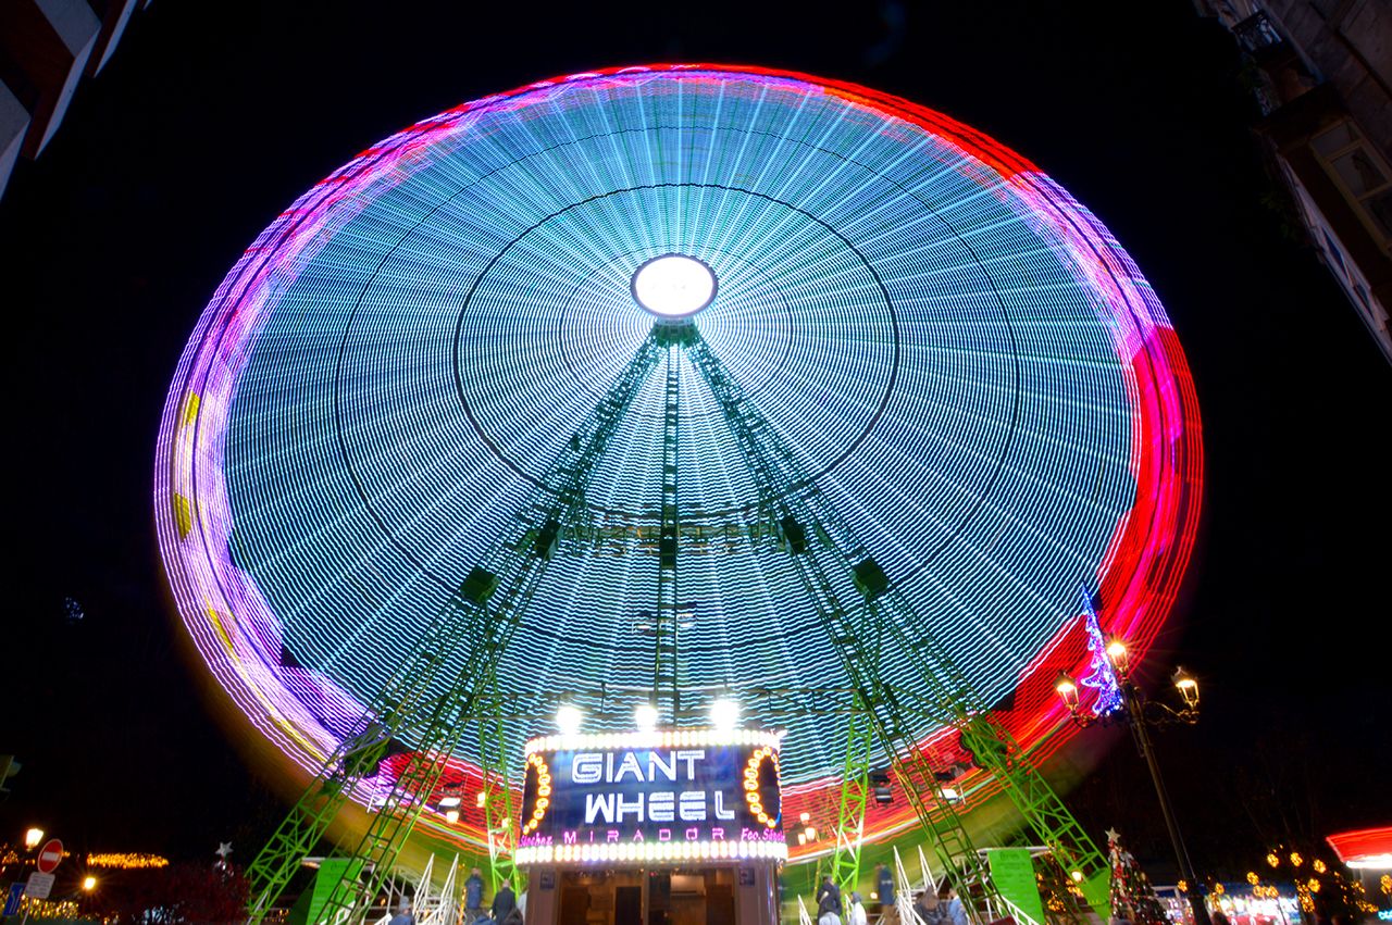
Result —
[[[870, 797], [874, 746], [889, 757], [901, 793], [923, 825], [938, 864], [963, 896], [977, 896], [999, 908], [987, 867], [972, 843], [960, 814], [942, 793], [935, 761], [913, 737], [919, 716], [955, 726], [976, 757], [1025, 817], [1065, 874], [1079, 872], [1084, 885], [1105, 882], [1107, 861], [1036, 771], [1009, 732], [972, 690], [948, 652], [931, 637], [908, 600], [892, 586], [867, 549], [853, 537], [791, 449], [763, 419], [724, 364], [688, 323], [658, 323], [586, 417], [576, 434], [521, 505], [483, 563], [436, 615], [411, 658], [393, 673], [359, 723], [326, 758], [319, 775], [248, 868], [252, 883], [249, 922], [260, 922], [271, 904], [327, 833], [330, 823], [365, 778], [376, 773], [394, 739], [409, 739], [398, 780], [349, 858], [367, 874], [342, 878], [333, 889], [320, 921], [342, 922], [365, 907], [391, 876], [395, 861], [445, 759], [459, 743], [468, 721], [477, 722], [483, 765], [483, 817], [489, 835], [493, 886], [514, 880], [514, 794], [508, 786], [505, 722], [511, 700], [497, 689], [497, 665], [547, 562], [569, 537], [583, 549], [593, 533], [585, 490], [638, 389], [665, 355], [663, 434], [663, 506], [658, 537], [658, 601], [654, 620], [653, 698], [670, 702], [674, 722], [682, 715], [678, 675], [677, 552], [682, 536], [677, 509], [677, 459], [681, 378], [678, 351], [685, 351], [711, 389], [760, 494], [761, 517], [773, 524], [809, 593], [830, 640], [841, 655], [851, 689], [841, 691], [837, 712], [849, 715], [842, 787], [837, 807], [835, 851], [825, 869], [842, 887], [855, 889]], [[859, 600], [857, 600], [859, 598]], [[846, 604], [846, 601], [856, 601]], [[885, 648], [912, 652], [927, 694], [889, 684], [880, 676]], [[459, 663], [458, 652], [464, 652]], [[444, 695], [430, 691], [451, 677]], [[770, 695], [798, 701], [799, 691]], [[825, 707], [824, 707], [825, 708]], [[818, 865], [818, 875], [823, 865]], [[1089, 896], [1094, 904], [1105, 897]], [[981, 908], [972, 908], [974, 919]]]

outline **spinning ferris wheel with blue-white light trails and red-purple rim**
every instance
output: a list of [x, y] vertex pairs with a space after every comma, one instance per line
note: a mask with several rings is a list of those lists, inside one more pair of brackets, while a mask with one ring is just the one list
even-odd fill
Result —
[[[361, 739], [462, 595], [483, 622], [422, 684], [486, 663], [532, 718], [498, 754], [562, 700], [596, 730], [734, 700], [786, 729], [788, 812], [860, 733], [866, 768], [908, 743], [988, 796], [944, 684], [1057, 750], [1057, 672], [1164, 625], [1199, 478], [1160, 302], [1037, 167], [864, 88], [661, 65], [459, 106], [305, 193], [203, 312], [155, 504], [191, 638], [284, 761]], [[898, 739], [857, 733], [874, 684], [928, 702]], [[432, 786], [487, 783], [486, 712]], [[379, 732], [369, 807], [440, 744]], [[480, 840], [454, 817], [422, 818]]]

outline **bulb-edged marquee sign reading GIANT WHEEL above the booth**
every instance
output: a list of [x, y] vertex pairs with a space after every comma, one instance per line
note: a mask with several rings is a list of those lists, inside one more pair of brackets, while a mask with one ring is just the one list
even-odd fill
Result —
[[780, 739], [748, 729], [535, 739], [516, 861], [786, 858]]

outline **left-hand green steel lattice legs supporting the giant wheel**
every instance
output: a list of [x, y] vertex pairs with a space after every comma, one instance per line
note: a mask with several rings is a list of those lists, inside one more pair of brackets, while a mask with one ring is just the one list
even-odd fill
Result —
[[[266, 918], [340, 810], [363, 789], [362, 780], [376, 773], [393, 739], [411, 740], [415, 751], [349, 854], [362, 862], [367, 879], [340, 879], [320, 921], [349, 921], [355, 910], [361, 911], [380, 892], [470, 718], [480, 719], [480, 737], [490, 743], [482, 750], [484, 764], [497, 762], [484, 766], [486, 822], [490, 829], [514, 825], [496, 669], [560, 545], [561, 531], [567, 524], [580, 523], [585, 488], [663, 346], [656, 331], [643, 341], [496, 538], [483, 565], [469, 573], [432, 620], [411, 658], [373, 698], [359, 723], [362, 732], [330, 753], [309, 789], [252, 861], [246, 871], [252, 925]], [[462, 665], [457, 652], [465, 654]], [[433, 694], [443, 679], [450, 679], [445, 693]], [[514, 876], [508, 847], [490, 850], [494, 883]]]

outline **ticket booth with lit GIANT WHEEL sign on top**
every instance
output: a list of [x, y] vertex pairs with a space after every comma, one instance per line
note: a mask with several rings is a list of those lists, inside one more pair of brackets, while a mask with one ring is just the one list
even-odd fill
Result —
[[778, 748], [752, 729], [528, 743], [528, 925], [774, 925]]

